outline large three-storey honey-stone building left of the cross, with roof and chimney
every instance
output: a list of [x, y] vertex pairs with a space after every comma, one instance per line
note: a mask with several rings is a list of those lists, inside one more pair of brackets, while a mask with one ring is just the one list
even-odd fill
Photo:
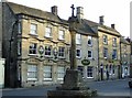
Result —
[[69, 67], [70, 35], [57, 7], [45, 12], [4, 2], [3, 8], [7, 86], [62, 83]]

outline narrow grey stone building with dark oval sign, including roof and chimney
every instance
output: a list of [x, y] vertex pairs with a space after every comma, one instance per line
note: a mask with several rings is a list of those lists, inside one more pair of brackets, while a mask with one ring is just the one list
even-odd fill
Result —
[[[86, 80], [98, 79], [98, 34], [89, 26], [89, 21], [84, 19], [84, 8], [77, 7], [76, 17], [79, 21], [76, 34], [77, 66], [82, 72]], [[84, 66], [82, 59], [89, 59], [90, 64]]]

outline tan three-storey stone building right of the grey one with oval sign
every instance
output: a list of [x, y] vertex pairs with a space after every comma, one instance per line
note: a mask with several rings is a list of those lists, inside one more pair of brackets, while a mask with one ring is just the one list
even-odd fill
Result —
[[111, 28], [105, 25], [103, 15], [99, 18], [99, 23], [89, 21], [90, 28], [98, 33], [98, 79], [113, 79], [121, 76], [120, 66], [120, 33], [114, 24]]

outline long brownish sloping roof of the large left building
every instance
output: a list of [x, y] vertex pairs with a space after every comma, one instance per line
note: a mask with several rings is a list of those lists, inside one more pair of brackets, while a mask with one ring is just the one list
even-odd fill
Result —
[[35, 8], [30, 8], [30, 7], [13, 3], [13, 2], [7, 2], [7, 3], [12, 9], [14, 14], [22, 13], [22, 14], [26, 14], [35, 18], [46, 19], [46, 20], [67, 24], [66, 20], [61, 19], [58, 15], [55, 15], [52, 12], [42, 11]]

